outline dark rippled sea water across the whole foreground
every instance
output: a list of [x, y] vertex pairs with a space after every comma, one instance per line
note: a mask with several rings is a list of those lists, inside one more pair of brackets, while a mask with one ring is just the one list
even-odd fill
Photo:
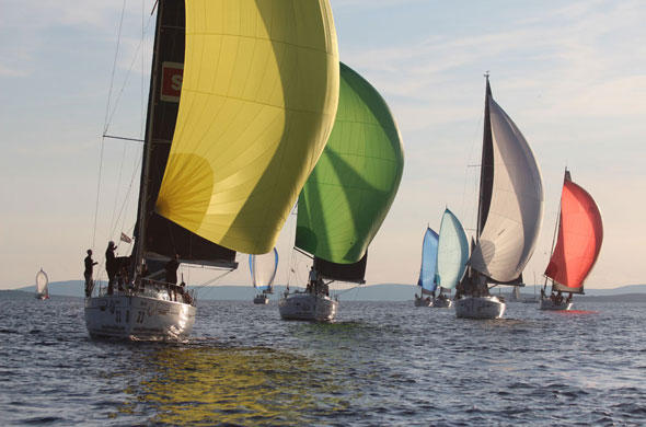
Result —
[[203, 301], [186, 345], [89, 339], [80, 299], [0, 292], [1, 425], [646, 425], [644, 303], [455, 319]]

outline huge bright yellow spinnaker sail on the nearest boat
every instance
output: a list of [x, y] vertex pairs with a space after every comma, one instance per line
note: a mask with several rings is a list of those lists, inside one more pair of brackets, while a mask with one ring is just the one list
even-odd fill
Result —
[[231, 250], [269, 252], [325, 147], [338, 80], [327, 0], [186, 0], [157, 211]]

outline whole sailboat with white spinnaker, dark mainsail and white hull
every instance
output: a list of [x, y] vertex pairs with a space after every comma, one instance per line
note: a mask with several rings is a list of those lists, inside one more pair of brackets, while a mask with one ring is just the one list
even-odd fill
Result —
[[543, 218], [543, 183], [534, 154], [494, 101], [486, 77], [475, 247], [455, 295], [455, 315], [498, 319], [505, 302], [489, 284], [519, 286]]

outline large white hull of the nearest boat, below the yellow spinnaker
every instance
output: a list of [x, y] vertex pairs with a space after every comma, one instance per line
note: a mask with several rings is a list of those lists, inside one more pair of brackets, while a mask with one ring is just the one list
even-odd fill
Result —
[[85, 325], [93, 338], [184, 341], [195, 323], [195, 307], [137, 295], [85, 298]]

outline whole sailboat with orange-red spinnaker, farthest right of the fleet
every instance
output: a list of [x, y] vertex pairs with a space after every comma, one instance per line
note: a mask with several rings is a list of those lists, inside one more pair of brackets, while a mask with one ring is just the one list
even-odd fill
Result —
[[[584, 293], [584, 280], [595, 266], [603, 241], [599, 208], [592, 196], [572, 181], [567, 169], [557, 223], [558, 239], [545, 269], [545, 285], [539, 302], [541, 310], [572, 308], [572, 295]], [[545, 295], [547, 279], [552, 280], [550, 297]], [[562, 292], [569, 292], [569, 296], [564, 298]]]

